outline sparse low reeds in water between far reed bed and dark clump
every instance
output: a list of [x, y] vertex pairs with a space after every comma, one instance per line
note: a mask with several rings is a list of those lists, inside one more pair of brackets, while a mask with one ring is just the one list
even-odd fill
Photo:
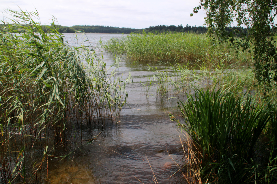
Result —
[[[148, 85], [148, 90], [151, 89], [150, 85], [154, 86], [157, 95], [160, 94], [167, 98], [193, 93], [194, 87], [221, 87], [233, 92], [256, 94], [255, 99], [262, 98], [259, 94], [263, 89], [257, 89], [257, 81], [250, 67], [185, 63], [167, 66], [164, 71], [149, 67], [149, 71], [153, 72], [153, 76], [144, 85]], [[275, 93], [275, 91], [271, 92]], [[273, 94], [271, 96], [274, 98]], [[274, 99], [276, 100], [276, 98]]]

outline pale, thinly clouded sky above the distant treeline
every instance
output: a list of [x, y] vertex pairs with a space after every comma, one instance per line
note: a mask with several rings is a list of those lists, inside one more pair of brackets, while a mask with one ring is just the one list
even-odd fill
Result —
[[199, 0], [0, 0], [0, 16], [6, 9], [38, 11], [40, 21], [49, 25], [54, 16], [62, 26], [102, 25], [147, 28], [156, 25], [203, 26], [203, 10], [190, 17]]

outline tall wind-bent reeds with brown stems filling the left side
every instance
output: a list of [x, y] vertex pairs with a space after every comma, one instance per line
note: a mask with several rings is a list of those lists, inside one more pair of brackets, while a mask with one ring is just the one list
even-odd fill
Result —
[[55, 146], [119, 121], [129, 79], [115, 77], [118, 58], [111, 70], [92, 47], [67, 45], [55, 20], [44, 32], [38, 12], [9, 14], [0, 30], [1, 182], [28, 183]]

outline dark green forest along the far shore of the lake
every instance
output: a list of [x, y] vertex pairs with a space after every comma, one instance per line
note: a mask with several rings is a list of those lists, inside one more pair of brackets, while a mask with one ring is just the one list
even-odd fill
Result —
[[[5, 25], [0, 24], [0, 28], [3, 28]], [[76, 31], [83, 30], [86, 33], [162, 33], [162, 32], [190, 32], [190, 33], [206, 33], [207, 28], [204, 26], [189, 26], [188, 24], [183, 27], [182, 24], [175, 26], [175, 25], [159, 25], [159, 26], [150, 26], [145, 29], [132, 29], [132, 28], [119, 28], [119, 27], [112, 27], [112, 26], [89, 26], [89, 25], [74, 25], [71, 27], [68, 26], [61, 26], [55, 25], [58, 28], [58, 31], [61, 33], [75, 33]], [[48, 26], [43, 26], [44, 31], [46, 32]], [[238, 29], [240, 32], [246, 34], [247, 28], [243, 27], [227, 27], [226, 30], [233, 30]], [[237, 35], [240, 36], [240, 35]]]

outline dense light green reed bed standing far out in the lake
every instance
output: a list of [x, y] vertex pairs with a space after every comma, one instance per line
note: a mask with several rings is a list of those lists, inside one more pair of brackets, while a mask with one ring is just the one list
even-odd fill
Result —
[[130, 34], [104, 43], [110, 53], [126, 55], [128, 60], [143, 62], [251, 62], [250, 54], [229, 47], [228, 43], [213, 44], [206, 34], [159, 33]]

